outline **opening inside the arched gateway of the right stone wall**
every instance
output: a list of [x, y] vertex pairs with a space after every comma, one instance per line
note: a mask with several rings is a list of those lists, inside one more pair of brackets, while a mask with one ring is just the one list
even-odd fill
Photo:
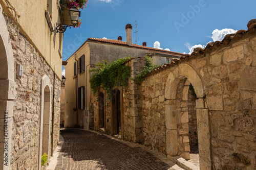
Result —
[[177, 155], [199, 167], [196, 100], [197, 95], [190, 81], [180, 79], [176, 92]]

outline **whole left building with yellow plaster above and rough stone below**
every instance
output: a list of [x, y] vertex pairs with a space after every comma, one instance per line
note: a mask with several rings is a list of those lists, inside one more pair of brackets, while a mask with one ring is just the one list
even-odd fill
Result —
[[59, 1], [0, 0], [0, 169], [44, 169], [57, 146], [62, 19]]

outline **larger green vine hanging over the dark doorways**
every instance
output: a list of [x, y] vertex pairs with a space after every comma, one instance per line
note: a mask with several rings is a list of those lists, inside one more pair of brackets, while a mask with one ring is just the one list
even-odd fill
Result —
[[128, 80], [131, 77], [130, 66], [124, 65], [123, 63], [131, 57], [120, 58], [114, 60], [112, 63], [108, 63], [106, 60], [102, 60], [95, 64], [95, 68], [89, 69], [89, 72], [94, 72], [90, 83], [93, 95], [98, 95], [98, 89], [103, 87], [106, 93], [111, 99], [111, 89], [115, 86], [127, 86]]

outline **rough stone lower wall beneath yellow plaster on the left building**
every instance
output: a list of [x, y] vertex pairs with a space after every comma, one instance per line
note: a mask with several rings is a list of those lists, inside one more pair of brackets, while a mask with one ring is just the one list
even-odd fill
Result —
[[[9, 22], [8, 27], [10, 30], [15, 29], [12, 22]], [[60, 103], [58, 89], [60, 89], [60, 79], [25, 36], [19, 34], [18, 36], [10, 35], [10, 37], [14, 67], [16, 68], [19, 64], [24, 66], [23, 77], [16, 76], [15, 78], [16, 94], [13, 108], [11, 168], [38, 169], [41, 79], [44, 75], [47, 75], [52, 87], [55, 83], [54, 119], [51, 117], [49, 156], [52, 149], [55, 150], [59, 141]], [[53, 82], [54, 74], [55, 82]], [[15, 75], [17, 75], [17, 70], [15, 70]], [[50, 90], [53, 91], [53, 89]], [[53, 99], [53, 93], [51, 99]]]

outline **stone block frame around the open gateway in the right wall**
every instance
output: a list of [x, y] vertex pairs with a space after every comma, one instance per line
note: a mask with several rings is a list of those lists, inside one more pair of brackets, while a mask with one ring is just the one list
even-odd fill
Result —
[[[177, 108], [177, 106], [179, 106], [180, 103], [176, 103], [177, 87], [181, 80], [184, 81], [186, 79], [193, 85], [198, 97], [196, 108], [200, 168], [211, 169], [209, 111], [204, 107], [203, 84], [193, 67], [185, 63], [180, 64], [179, 67], [170, 72], [165, 84], [166, 152], [170, 156], [177, 156], [179, 151], [177, 118], [180, 116], [180, 108]], [[183, 89], [183, 93], [186, 93], [187, 90], [187, 88]], [[184, 117], [187, 117], [187, 115], [184, 115]], [[189, 155], [183, 156], [189, 159]]]

